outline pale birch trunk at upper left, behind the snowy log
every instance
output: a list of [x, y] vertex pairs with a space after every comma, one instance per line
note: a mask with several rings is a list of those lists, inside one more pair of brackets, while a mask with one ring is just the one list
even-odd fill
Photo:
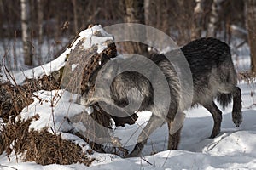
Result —
[[21, 5], [21, 28], [25, 65], [32, 65], [32, 50], [29, 40], [29, 1], [20, 0]]

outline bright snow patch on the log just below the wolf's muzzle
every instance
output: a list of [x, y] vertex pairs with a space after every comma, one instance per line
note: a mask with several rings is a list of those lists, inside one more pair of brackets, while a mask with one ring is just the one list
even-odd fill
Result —
[[33, 97], [34, 102], [24, 108], [20, 116], [23, 119], [27, 119], [38, 114], [40, 119], [32, 122], [30, 125], [30, 128], [35, 130], [40, 130], [44, 127], [54, 127], [58, 131], [67, 132], [72, 130], [73, 127], [67, 122], [65, 117], [73, 117], [85, 110], [84, 105], [73, 102], [77, 98], [76, 94], [71, 94], [64, 90], [53, 90], [50, 92], [42, 90], [34, 94], [38, 97]]

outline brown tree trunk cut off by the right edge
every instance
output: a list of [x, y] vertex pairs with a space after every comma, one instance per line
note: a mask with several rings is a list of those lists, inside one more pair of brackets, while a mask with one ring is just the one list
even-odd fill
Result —
[[256, 72], [256, 1], [246, 0], [247, 37], [251, 51], [252, 72]]

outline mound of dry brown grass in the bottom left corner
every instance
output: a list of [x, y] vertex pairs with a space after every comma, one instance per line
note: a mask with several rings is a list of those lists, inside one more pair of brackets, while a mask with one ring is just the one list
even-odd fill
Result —
[[21, 154], [22, 161], [35, 161], [41, 165], [61, 164], [67, 165], [76, 162], [84, 163], [89, 166], [93, 158], [88, 153], [84, 153], [79, 145], [71, 141], [61, 139], [61, 135], [49, 133], [46, 128], [38, 131], [29, 131], [29, 125], [32, 120], [37, 120], [38, 116], [16, 122], [8, 122], [3, 125], [1, 131], [1, 150], [8, 156], [15, 153], [18, 161], [18, 155]]

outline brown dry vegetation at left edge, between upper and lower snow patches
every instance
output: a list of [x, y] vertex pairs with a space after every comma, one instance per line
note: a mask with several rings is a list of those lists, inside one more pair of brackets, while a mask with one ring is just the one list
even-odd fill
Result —
[[60, 89], [59, 77], [60, 72], [55, 71], [49, 76], [26, 79], [23, 85], [0, 83], [0, 118], [3, 122], [8, 122], [11, 118], [14, 122], [14, 117], [18, 116], [27, 105], [32, 104], [32, 97], [37, 97], [33, 94], [34, 92]]

